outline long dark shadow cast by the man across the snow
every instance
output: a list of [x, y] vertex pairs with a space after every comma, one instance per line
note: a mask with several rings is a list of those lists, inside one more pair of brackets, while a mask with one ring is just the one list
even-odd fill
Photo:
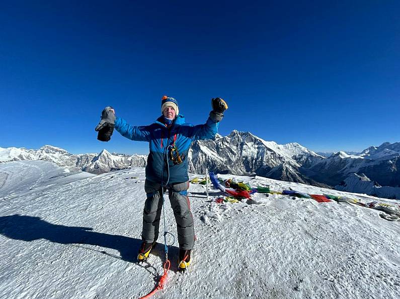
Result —
[[[125, 261], [136, 261], [136, 254], [141, 245], [141, 240], [119, 235], [98, 233], [92, 230], [93, 228], [90, 227], [52, 224], [40, 219], [40, 217], [21, 216], [18, 214], [0, 217], [0, 234], [10, 239], [28, 242], [45, 239], [60, 244], [96, 245], [118, 250], [121, 254], [120, 258]], [[96, 251], [113, 256], [105, 251]], [[162, 259], [164, 258], [164, 252], [161, 250], [154, 250], [152, 253]], [[119, 258], [118, 256], [115, 257]]]

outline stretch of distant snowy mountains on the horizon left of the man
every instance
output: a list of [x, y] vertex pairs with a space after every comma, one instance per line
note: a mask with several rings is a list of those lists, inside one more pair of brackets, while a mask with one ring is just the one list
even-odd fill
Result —
[[144, 167], [147, 156], [110, 154], [106, 150], [100, 154], [73, 155], [60, 147], [51, 145], [44, 145], [39, 150], [0, 147], [0, 163], [19, 160], [50, 161], [58, 166], [68, 167], [71, 171], [83, 170], [92, 174], [102, 174], [132, 166]]

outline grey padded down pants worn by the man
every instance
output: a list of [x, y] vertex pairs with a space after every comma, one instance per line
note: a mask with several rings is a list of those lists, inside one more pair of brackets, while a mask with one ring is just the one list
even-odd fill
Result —
[[[164, 187], [168, 189], [171, 207], [174, 210], [177, 222], [178, 242], [181, 249], [192, 249], [194, 243], [193, 216], [190, 211], [187, 190], [189, 182], [170, 184]], [[158, 238], [159, 220], [163, 208], [161, 184], [146, 180], [144, 183], [146, 201], [143, 209], [142, 240], [152, 243]]]

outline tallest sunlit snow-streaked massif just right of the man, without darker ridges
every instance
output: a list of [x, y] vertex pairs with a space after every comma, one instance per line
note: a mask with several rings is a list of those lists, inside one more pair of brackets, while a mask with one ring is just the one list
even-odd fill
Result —
[[214, 140], [196, 140], [189, 153], [189, 172], [205, 173], [206, 168], [218, 173], [259, 175], [289, 182], [321, 185], [299, 172], [324, 157], [298, 143], [277, 144], [250, 132], [232, 131]]

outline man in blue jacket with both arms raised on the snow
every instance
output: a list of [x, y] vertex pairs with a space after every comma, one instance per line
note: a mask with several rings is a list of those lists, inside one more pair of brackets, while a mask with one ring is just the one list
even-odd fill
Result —
[[[187, 190], [189, 188], [188, 152], [193, 140], [212, 139], [217, 133], [218, 122], [228, 108], [221, 98], [211, 100], [212, 111], [205, 124], [191, 125], [179, 114], [176, 99], [163, 96], [162, 116], [146, 126], [132, 126], [106, 107], [96, 127], [98, 139], [108, 141], [115, 128], [126, 138], [149, 142], [144, 190], [146, 201], [143, 209], [142, 245], [138, 261], [145, 261], [158, 238], [159, 221], [163, 208], [163, 191], [168, 190], [177, 222], [179, 242], [179, 270], [185, 270], [191, 261], [195, 234]], [[164, 188], [163, 188], [164, 187]], [[164, 190], [163, 190], [164, 189]]]

